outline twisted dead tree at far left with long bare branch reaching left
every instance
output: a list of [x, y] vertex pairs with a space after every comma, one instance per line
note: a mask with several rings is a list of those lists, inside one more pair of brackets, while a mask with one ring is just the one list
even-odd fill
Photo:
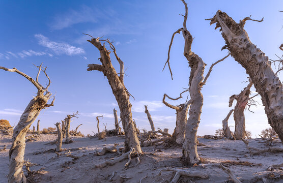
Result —
[[[42, 64], [40, 66], [37, 66], [37, 68], [38, 73], [36, 76], [36, 80], [34, 80], [32, 77], [22, 73], [16, 68], [7, 69], [4, 67], [0, 67], [0, 69], [3, 69], [5, 71], [16, 72], [22, 75], [30, 82], [32, 82], [37, 88], [37, 96], [34, 97], [27, 105], [20, 117], [18, 125], [15, 127], [13, 132], [12, 146], [9, 150], [9, 183], [26, 182], [26, 178], [22, 171], [26, 132], [29, 130], [29, 128], [39, 115], [41, 109], [53, 106], [55, 100], [55, 98], [53, 98], [52, 102], [50, 104], [47, 104], [48, 100], [52, 95], [50, 92], [48, 92], [48, 87], [50, 86], [51, 81], [46, 73], [46, 68], [42, 67]], [[39, 74], [41, 71], [44, 72], [45, 76], [49, 81], [46, 87], [43, 87], [38, 81]]]

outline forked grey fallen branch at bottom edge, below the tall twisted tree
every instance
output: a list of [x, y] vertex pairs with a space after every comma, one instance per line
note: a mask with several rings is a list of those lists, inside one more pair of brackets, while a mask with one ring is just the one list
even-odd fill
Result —
[[[171, 183], [177, 183], [180, 176], [184, 175], [184, 176], [190, 176], [190, 177], [200, 177], [200, 178], [208, 178], [208, 175], [206, 173], [200, 172], [200, 171], [196, 171], [196, 170], [184, 170], [184, 169], [176, 169], [176, 168], [166, 168], [161, 170], [162, 171], [175, 171], [176, 174], [174, 176], [174, 178], [171, 180]], [[161, 172], [159, 174], [161, 174]]]

